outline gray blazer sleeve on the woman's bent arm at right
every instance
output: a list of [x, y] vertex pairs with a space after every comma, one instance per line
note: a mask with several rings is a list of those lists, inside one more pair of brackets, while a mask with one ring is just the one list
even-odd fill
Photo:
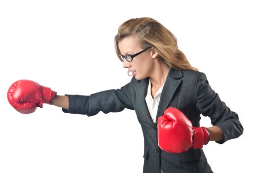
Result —
[[243, 127], [239, 121], [237, 113], [231, 111], [218, 94], [210, 87], [207, 77], [199, 72], [197, 78], [197, 103], [196, 107], [203, 116], [211, 119], [211, 124], [219, 127], [224, 133], [225, 141], [239, 137], [243, 133]]

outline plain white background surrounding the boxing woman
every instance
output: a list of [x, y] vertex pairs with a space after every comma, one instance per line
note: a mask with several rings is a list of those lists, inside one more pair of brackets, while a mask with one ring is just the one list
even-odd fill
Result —
[[[9, 86], [29, 79], [57, 94], [89, 95], [130, 82], [113, 46], [118, 27], [152, 17], [177, 38], [192, 66], [244, 127], [239, 138], [211, 141], [215, 173], [260, 170], [260, 5], [254, 0], [1, 0], [0, 173], [142, 173], [143, 134], [134, 111], [65, 114], [44, 104], [23, 115]], [[202, 117], [201, 126], [210, 127]]]

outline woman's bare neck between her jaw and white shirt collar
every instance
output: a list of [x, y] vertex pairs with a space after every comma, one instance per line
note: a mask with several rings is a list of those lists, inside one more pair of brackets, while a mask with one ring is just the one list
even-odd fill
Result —
[[157, 58], [154, 69], [149, 76], [151, 87], [160, 88], [165, 83], [170, 67]]

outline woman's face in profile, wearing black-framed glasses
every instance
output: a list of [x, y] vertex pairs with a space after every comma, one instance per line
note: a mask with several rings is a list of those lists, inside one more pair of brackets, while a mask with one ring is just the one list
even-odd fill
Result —
[[[134, 55], [135, 53], [143, 50], [140, 47], [139, 39], [135, 36], [126, 37], [121, 40], [119, 42], [119, 49], [122, 55]], [[153, 71], [156, 56], [156, 52], [152, 49], [148, 49], [145, 52], [135, 56], [131, 62], [124, 60], [123, 67], [128, 68], [130, 71], [128, 74], [133, 74], [136, 80], [142, 80], [150, 76]], [[134, 73], [131, 71], [134, 71]]]

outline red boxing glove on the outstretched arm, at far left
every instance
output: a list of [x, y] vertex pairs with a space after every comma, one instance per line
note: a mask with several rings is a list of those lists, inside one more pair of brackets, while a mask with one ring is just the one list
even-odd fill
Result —
[[50, 100], [56, 95], [49, 87], [39, 85], [34, 81], [20, 80], [13, 83], [7, 92], [9, 103], [22, 114], [35, 112], [37, 107], [43, 107], [43, 103], [50, 104]]

